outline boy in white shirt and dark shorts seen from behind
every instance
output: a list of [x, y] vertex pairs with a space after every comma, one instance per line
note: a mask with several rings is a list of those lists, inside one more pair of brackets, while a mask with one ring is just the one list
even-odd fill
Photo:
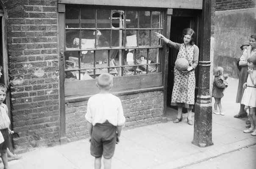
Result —
[[85, 118], [91, 142], [91, 155], [95, 157], [95, 169], [100, 169], [103, 155], [104, 169], [111, 169], [115, 145], [120, 140], [125, 123], [120, 99], [109, 93], [113, 86], [111, 74], [101, 74], [96, 82], [100, 92], [89, 98]]

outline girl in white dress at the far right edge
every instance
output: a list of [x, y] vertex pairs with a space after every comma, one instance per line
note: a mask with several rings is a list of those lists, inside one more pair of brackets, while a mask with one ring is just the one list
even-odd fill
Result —
[[245, 89], [241, 104], [245, 105], [245, 109], [249, 109], [250, 128], [244, 130], [244, 133], [251, 133], [256, 136], [256, 57], [248, 58], [248, 78], [243, 85]]

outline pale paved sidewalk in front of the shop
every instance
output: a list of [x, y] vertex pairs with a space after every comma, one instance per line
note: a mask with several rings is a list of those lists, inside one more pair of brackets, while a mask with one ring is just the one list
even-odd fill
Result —
[[[167, 123], [122, 131], [112, 169], [183, 168], [256, 144], [256, 136], [243, 133], [246, 118], [233, 117], [239, 110], [239, 104], [235, 103], [237, 84], [237, 79], [229, 78], [229, 87], [222, 100], [225, 116], [212, 114], [214, 145], [200, 148], [192, 144], [194, 128], [186, 123], [186, 114], [180, 123], [173, 123], [176, 110], [169, 108]], [[23, 158], [10, 161], [9, 166], [10, 169], [94, 169], [89, 147], [88, 139], [83, 139], [40, 148], [21, 154]], [[3, 164], [0, 164], [0, 169], [3, 169]]]

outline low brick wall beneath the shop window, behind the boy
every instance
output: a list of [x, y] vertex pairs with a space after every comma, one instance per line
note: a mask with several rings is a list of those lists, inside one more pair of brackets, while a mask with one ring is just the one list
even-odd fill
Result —
[[[160, 123], [163, 115], [163, 92], [147, 92], [118, 96], [122, 101], [125, 128]], [[87, 101], [66, 104], [66, 136], [68, 142], [88, 137], [85, 112]], [[124, 129], [125, 129], [124, 128]]]

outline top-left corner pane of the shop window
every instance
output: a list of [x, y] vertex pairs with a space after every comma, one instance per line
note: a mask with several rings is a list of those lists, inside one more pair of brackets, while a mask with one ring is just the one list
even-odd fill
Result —
[[79, 27], [79, 8], [66, 8], [66, 28]]

